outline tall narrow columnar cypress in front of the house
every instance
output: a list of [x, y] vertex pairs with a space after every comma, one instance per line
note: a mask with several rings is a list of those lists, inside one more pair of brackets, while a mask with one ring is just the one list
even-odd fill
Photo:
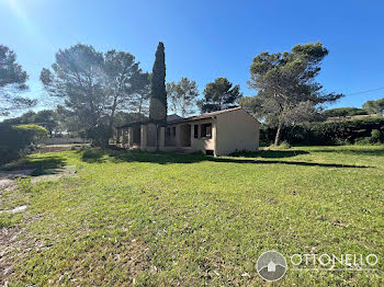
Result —
[[162, 42], [157, 46], [150, 81], [149, 120], [159, 126], [167, 124], [166, 54]]

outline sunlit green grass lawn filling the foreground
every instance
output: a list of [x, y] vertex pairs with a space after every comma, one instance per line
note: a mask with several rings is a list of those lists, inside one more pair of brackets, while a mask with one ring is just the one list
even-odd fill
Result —
[[[25, 164], [76, 165], [77, 176], [1, 195], [0, 209], [29, 206], [0, 215], [24, 229], [10, 286], [383, 285], [383, 146], [223, 158], [65, 151]], [[256, 271], [269, 250], [289, 263], [272, 284]], [[293, 271], [296, 253], [373, 253], [380, 271]]]

